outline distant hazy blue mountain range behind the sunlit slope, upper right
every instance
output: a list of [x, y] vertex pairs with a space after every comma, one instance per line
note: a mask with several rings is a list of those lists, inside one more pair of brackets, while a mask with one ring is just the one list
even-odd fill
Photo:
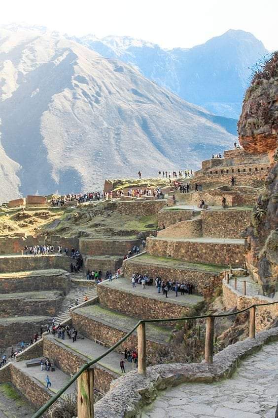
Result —
[[[229, 30], [193, 48], [162, 49], [129, 37], [87, 35], [76, 41], [107, 58], [132, 64], [148, 79], [209, 112], [238, 119], [250, 68], [268, 54], [252, 34]], [[234, 123], [235, 126], [235, 123]]]

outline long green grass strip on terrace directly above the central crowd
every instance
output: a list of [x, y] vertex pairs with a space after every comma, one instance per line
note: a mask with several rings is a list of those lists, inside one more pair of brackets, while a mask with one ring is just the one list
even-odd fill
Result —
[[212, 273], [220, 273], [222, 270], [227, 269], [227, 266], [219, 266], [215, 264], [205, 264], [205, 263], [191, 263], [176, 260], [172, 257], [155, 257], [150, 254], [141, 254], [138, 257], [132, 258], [132, 263], [138, 264], [153, 264], [159, 266], [165, 266], [170, 268], [180, 268], [180, 269], [192, 269], [192, 270], [200, 270], [200, 271], [207, 271]]

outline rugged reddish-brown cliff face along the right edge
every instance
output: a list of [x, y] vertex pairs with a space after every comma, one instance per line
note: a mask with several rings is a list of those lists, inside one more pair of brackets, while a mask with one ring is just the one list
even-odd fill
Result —
[[273, 293], [278, 280], [278, 52], [254, 75], [245, 94], [238, 131], [247, 152], [268, 152], [272, 162], [247, 231], [246, 261], [253, 277], [269, 284], [265, 290]]

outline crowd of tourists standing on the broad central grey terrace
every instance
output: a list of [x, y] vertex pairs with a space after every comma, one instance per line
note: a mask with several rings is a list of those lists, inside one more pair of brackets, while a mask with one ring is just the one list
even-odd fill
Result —
[[140, 273], [132, 274], [131, 283], [133, 288], [136, 288], [136, 285], [141, 285], [142, 289], [145, 289], [146, 286], [152, 286], [154, 283], [157, 292], [162, 292], [166, 297], [168, 297], [168, 292], [175, 292], [175, 296], [178, 296], [178, 293], [184, 295], [185, 293], [192, 294], [194, 291], [194, 285], [190, 282], [162, 280], [159, 276], [154, 279], [147, 274], [142, 275]]

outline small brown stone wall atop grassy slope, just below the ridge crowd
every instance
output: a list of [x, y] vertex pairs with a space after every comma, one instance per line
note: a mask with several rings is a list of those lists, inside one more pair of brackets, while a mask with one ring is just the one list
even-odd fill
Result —
[[132, 201], [132, 202], [118, 202], [117, 212], [125, 215], [149, 216], [155, 215], [160, 209], [166, 206], [166, 201]]

